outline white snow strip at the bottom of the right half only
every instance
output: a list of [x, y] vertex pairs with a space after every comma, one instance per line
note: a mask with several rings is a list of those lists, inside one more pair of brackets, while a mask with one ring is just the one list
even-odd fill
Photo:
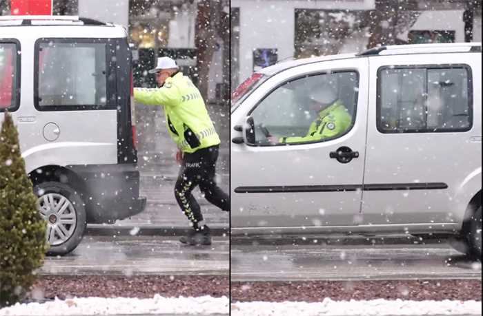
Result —
[[482, 302], [475, 301], [403, 301], [374, 299], [371, 301], [306, 302], [238, 302], [231, 304], [232, 316], [293, 316], [293, 315], [482, 315]]

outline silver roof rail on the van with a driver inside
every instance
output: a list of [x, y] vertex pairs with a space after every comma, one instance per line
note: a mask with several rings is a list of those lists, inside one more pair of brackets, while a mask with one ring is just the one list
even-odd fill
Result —
[[435, 44], [410, 44], [410, 45], [387, 45], [370, 48], [360, 52], [356, 56], [377, 56], [397, 54], [423, 54], [438, 52], [481, 52], [482, 43], [435, 43]]

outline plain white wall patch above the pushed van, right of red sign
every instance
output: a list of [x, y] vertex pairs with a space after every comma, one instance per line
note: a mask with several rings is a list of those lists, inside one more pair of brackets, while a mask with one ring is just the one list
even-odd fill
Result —
[[79, 17], [123, 25], [129, 23], [128, 0], [79, 0]]

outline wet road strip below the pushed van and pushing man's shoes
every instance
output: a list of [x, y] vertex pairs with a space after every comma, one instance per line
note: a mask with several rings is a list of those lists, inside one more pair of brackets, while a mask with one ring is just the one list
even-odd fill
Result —
[[166, 237], [86, 236], [63, 257], [46, 257], [41, 274], [228, 275], [228, 238], [211, 246], [185, 246]]

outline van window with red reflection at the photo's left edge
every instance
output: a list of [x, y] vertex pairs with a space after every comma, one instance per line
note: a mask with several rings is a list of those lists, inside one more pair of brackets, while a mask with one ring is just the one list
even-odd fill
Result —
[[0, 112], [10, 112], [18, 108], [17, 91], [17, 58], [16, 43], [0, 43]]

